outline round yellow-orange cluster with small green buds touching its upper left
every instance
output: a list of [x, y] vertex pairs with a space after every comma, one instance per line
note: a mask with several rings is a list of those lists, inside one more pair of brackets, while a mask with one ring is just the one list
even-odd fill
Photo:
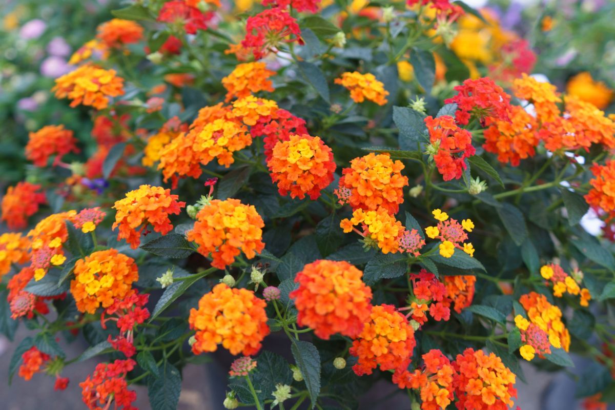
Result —
[[196, 215], [194, 229], [188, 231], [188, 240], [199, 245], [199, 253], [212, 255], [212, 266], [224, 269], [244, 252], [248, 259], [264, 248], [263, 218], [253, 205], [244, 205], [239, 199], [212, 200]]

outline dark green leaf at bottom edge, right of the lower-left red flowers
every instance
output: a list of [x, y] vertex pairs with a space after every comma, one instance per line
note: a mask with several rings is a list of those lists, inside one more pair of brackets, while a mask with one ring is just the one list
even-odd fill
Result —
[[180, 400], [180, 371], [165, 361], [158, 369], [158, 376], [148, 377], [148, 397], [152, 410], [175, 410]]

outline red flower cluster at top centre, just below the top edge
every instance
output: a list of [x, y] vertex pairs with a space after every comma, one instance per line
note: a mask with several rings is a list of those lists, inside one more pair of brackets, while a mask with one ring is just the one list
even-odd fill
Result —
[[277, 7], [248, 17], [245, 31], [241, 44], [252, 49], [256, 60], [270, 52], [276, 53], [282, 43], [301, 42], [301, 30], [296, 19]]

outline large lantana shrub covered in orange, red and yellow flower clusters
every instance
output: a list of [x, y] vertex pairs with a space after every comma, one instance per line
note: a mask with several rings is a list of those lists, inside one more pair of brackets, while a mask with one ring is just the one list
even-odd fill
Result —
[[2, 197], [0, 330], [32, 331], [9, 382], [105, 410], [146, 385], [166, 410], [226, 350], [219, 408], [352, 409], [384, 379], [413, 410], [503, 410], [520, 363], [575, 353], [577, 395], [613, 401], [606, 85], [541, 82], [539, 50], [462, 2], [111, 13], [51, 89], [91, 135], [50, 118]]

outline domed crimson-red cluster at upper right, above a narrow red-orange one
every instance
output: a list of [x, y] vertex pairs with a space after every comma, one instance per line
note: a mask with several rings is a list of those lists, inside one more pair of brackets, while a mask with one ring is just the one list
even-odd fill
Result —
[[444, 102], [457, 104], [455, 119], [458, 124], [466, 125], [472, 116], [483, 126], [493, 120], [508, 120], [510, 95], [489, 77], [467, 79], [454, 89], [458, 94]]

